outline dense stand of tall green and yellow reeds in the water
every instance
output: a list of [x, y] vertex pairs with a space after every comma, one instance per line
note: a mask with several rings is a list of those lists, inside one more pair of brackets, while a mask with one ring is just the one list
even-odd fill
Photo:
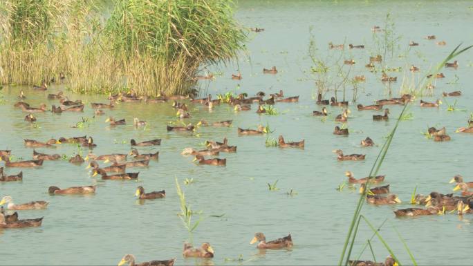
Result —
[[226, 64], [246, 39], [230, 1], [115, 0], [107, 19], [96, 3], [2, 1], [0, 83], [185, 95], [201, 68]]

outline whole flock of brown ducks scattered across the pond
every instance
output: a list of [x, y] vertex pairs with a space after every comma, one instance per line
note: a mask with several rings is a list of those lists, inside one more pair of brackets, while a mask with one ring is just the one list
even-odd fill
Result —
[[[261, 32], [264, 29], [255, 28], [254, 31]], [[373, 30], [380, 30], [379, 28], [373, 28]], [[427, 39], [435, 39], [430, 36]], [[415, 46], [416, 43], [413, 41], [409, 44], [410, 46]], [[329, 44], [331, 49], [344, 49], [344, 45], [334, 45]], [[349, 45], [350, 49], [358, 48], [362, 49], [364, 46], [353, 46]], [[373, 68], [376, 63], [382, 61], [380, 55], [376, 57], [369, 58], [369, 64], [367, 68]], [[346, 60], [345, 64], [355, 64], [353, 60]], [[458, 63], [454, 61], [453, 63], [447, 63], [447, 67], [457, 68]], [[418, 71], [418, 68], [415, 66], [411, 67], [411, 71]], [[273, 66], [272, 68], [263, 69], [264, 74], [274, 75], [278, 72], [277, 68]], [[441, 73], [440, 73], [441, 74]], [[436, 78], [445, 77], [443, 74], [438, 74]], [[210, 79], [213, 75], [207, 76], [198, 76], [197, 79]], [[242, 79], [241, 73], [232, 75], [232, 79]], [[364, 81], [366, 78], [364, 76], [355, 77], [355, 79]], [[382, 82], [396, 82], [396, 77], [389, 77], [386, 73], [382, 75]], [[46, 91], [48, 85], [44, 82], [41, 86], [34, 86], [35, 90]], [[146, 102], [149, 104], [158, 104], [158, 103], [167, 103], [172, 102], [171, 108], [176, 109], [176, 114], [180, 119], [187, 119], [191, 117], [189, 113], [189, 108], [184, 101], [192, 102], [193, 104], [202, 104], [205, 108], [212, 109], [213, 106], [219, 104], [229, 104], [234, 108], [234, 111], [251, 111], [252, 104], [258, 104], [255, 113], [263, 114], [270, 111], [270, 106], [277, 104], [277, 102], [298, 102], [299, 96], [290, 96], [285, 97], [284, 92], [281, 90], [277, 93], [271, 93], [266, 97], [266, 93], [259, 92], [253, 97], [248, 97], [246, 93], [241, 93], [237, 96], [230, 96], [228, 98], [219, 97], [219, 99], [212, 99], [212, 95], [207, 97], [196, 99], [195, 94], [192, 95], [175, 95], [175, 96], [163, 96], [150, 98], [150, 97], [138, 97], [136, 93], [118, 93], [117, 95], [109, 96], [109, 103], [91, 103], [91, 107], [95, 110], [95, 115], [104, 115], [105, 109], [113, 111], [115, 108], [115, 102]], [[454, 91], [451, 93], [443, 93], [443, 97], [458, 97], [461, 96], [460, 91]], [[33, 107], [26, 103], [26, 95], [23, 91], [19, 93], [20, 101], [15, 104], [16, 108], [21, 108], [22, 111], [26, 112], [27, 115], [24, 118], [26, 122], [35, 122], [37, 118], [35, 113], [44, 113], [49, 111], [46, 109], [46, 104], [41, 104], [39, 107]], [[71, 101], [64, 95], [64, 93], [59, 92], [55, 94], [49, 94], [48, 99], [58, 100], [58, 106], [52, 105], [50, 111], [52, 113], [62, 113], [62, 112], [82, 112], [84, 111], [84, 103], [81, 100]], [[407, 104], [407, 102], [414, 101], [413, 95], [402, 95], [402, 97], [391, 98], [391, 99], [381, 99], [375, 102], [373, 105], [363, 105], [358, 104], [358, 111], [382, 111], [384, 106], [393, 105], [393, 104]], [[335, 135], [349, 135], [349, 129], [346, 128], [346, 122], [350, 120], [349, 102], [337, 102], [335, 97], [331, 97], [330, 100], [324, 99], [322, 93], [317, 95], [317, 105], [322, 108], [319, 111], [313, 111], [314, 116], [324, 117], [328, 115], [327, 108], [325, 106], [334, 106], [341, 107], [342, 112], [340, 115], [335, 117], [335, 122], [342, 123], [342, 126], [335, 126], [333, 134]], [[436, 102], [424, 102], [420, 100], [420, 106], [422, 107], [438, 107], [442, 102], [440, 100]], [[384, 108], [384, 115], [373, 115], [373, 120], [389, 120], [389, 108]], [[109, 122], [111, 126], [120, 126], [127, 124], [124, 119], [115, 119], [110, 116], [106, 122]], [[199, 126], [230, 126], [232, 120], [221, 121], [221, 122], [207, 122], [205, 120], [200, 120], [197, 124], [187, 124], [185, 126], [167, 126], [167, 131], [195, 131]], [[134, 126], [146, 126], [147, 122], [135, 118], [133, 120]], [[469, 121], [469, 126], [467, 128], [458, 129], [459, 132], [463, 133], [473, 133], [473, 122]], [[258, 126], [257, 129], [241, 129], [237, 128], [236, 133], [238, 135], [263, 135], [267, 133], [267, 129], [263, 126]], [[429, 135], [434, 138], [434, 141], [448, 141], [450, 137], [446, 134], [445, 128], [443, 129], [429, 129]], [[39, 153], [35, 151], [35, 148], [39, 147], [50, 147], [61, 144], [80, 144], [81, 146], [92, 151], [97, 144], [93, 141], [93, 137], [89, 136], [80, 136], [80, 137], [59, 137], [56, 139], [47, 140], [46, 142], [40, 142], [37, 140], [24, 140], [24, 144], [27, 147], [33, 148], [33, 160], [25, 161], [10, 161], [12, 156], [12, 151], [4, 150], [0, 151], [0, 160], [4, 162], [4, 167], [10, 169], [12, 167], [38, 167], [43, 164], [46, 160], [60, 160], [62, 158], [59, 154], [46, 154]], [[108, 155], [95, 155], [89, 153], [85, 158], [82, 158], [81, 155], [75, 155], [70, 158], [69, 162], [73, 164], [82, 164], [88, 162], [87, 168], [92, 169], [92, 175], [100, 175], [102, 180], [136, 180], [138, 178], [138, 172], [128, 172], [127, 169], [136, 168], [136, 167], [148, 167], [150, 160], [158, 160], [159, 151], [156, 153], [142, 154], [138, 151], [138, 147], [142, 146], [159, 146], [161, 144], [160, 139], [155, 140], [146, 140], [142, 142], [137, 142], [136, 140], [130, 140], [131, 151], [128, 154], [113, 153]], [[227, 160], [225, 158], [205, 158], [205, 156], [216, 156], [219, 153], [233, 153], [236, 152], [236, 146], [231, 146], [228, 144], [226, 138], [223, 139], [223, 142], [216, 142], [208, 140], [205, 142], [207, 149], [197, 150], [193, 148], [185, 148], [182, 152], [183, 155], [193, 155], [194, 161], [198, 164], [209, 164], [214, 166], [225, 166]], [[280, 148], [299, 148], [304, 149], [305, 141], [301, 140], [299, 142], [286, 142], [282, 135], [279, 136], [277, 145]], [[361, 140], [361, 146], [374, 146], [373, 140], [370, 137]], [[340, 149], [333, 151], [337, 154], [337, 160], [364, 160], [364, 154], [349, 154], [346, 155]], [[127, 160], [131, 157], [133, 160]], [[90, 162], [89, 162], [90, 161]], [[111, 162], [110, 166], [100, 166], [98, 162], [102, 161], [103, 163]], [[384, 182], [384, 175], [379, 175], [376, 177], [367, 177], [356, 179], [353, 176], [351, 171], [346, 171], [346, 176], [348, 177], [348, 182], [350, 184], [360, 184], [360, 193], [363, 193], [366, 190], [367, 183], [378, 184]], [[23, 173], [20, 171], [17, 174], [5, 174], [3, 173], [3, 167], [0, 168], [0, 181], [1, 182], [12, 182], [23, 179]], [[461, 175], [455, 175], [450, 182], [455, 182], [456, 187], [454, 190], [461, 190], [461, 196], [454, 196], [452, 193], [441, 194], [437, 192], [429, 193], [428, 196], [417, 195], [415, 198], [415, 204], [424, 205], [425, 208], [408, 208], [408, 209], [398, 209], [394, 211], [396, 216], [422, 216], [422, 215], [432, 215], [436, 213], [445, 213], [445, 211], [454, 211], [456, 210], [458, 214], [472, 213], [470, 205], [472, 204], [471, 200], [473, 198], [473, 192], [469, 191], [469, 188], [473, 187], [473, 182], [464, 182]], [[51, 186], [48, 188], [48, 193], [50, 195], [55, 194], [89, 194], [96, 193], [95, 186], [82, 186], [82, 187], [68, 187], [68, 188], [59, 188], [56, 186]], [[389, 184], [383, 185], [382, 187], [373, 187], [367, 192], [367, 202], [373, 205], [395, 205], [400, 203], [400, 200], [396, 194], [390, 193]], [[161, 191], [151, 191], [145, 192], [145, 188], [140, 186], [136, 189], [136, 197], [140, 200], [152, 200], [156, 198], [165, 198], [165, 190]], [[3, 205], [6, 205], [6, 209], [10, 211], [17, 210], [32, 210], [32, 209], [44, 209], [48, 207], [48, 202], [46, 201], [33, 201], [22, 204], [15, 204], [12, 197], [4, 196], [0, 205], [2, 205], [0, 213], [0, 228], [22, 228], [22, 227], [39, 227], [43, 221], [43, 218], [36, 219], [19, 219], [18, 213], [12, 213], [8, 215], [3, 209]], [[290, 248], [293, 246], [293, 240], [290, 236], [285, 236], [277, 240], [266, 241], [266, 236], [262, 233], [256, 233], [254, 238], [251, 240], [250, 244], [258, 243], [257, 247], [259, 249], [280, 249], [280, 248]], [[201, 257], [201, 258], [212, 258], [214, 257], [214, 249], [210, 243], [203, 243], [201, 247], [193, 247], [188, 243], [184, 244], [183, 256], [185, 257]], [[148, 263], [142, 263], [139, 265], [174, 265], [175, 258], [170, 260], [153, 260]], [[362, 263], [367, 263], [366, 261], [353, 261], [353, 265], [362, 265]], [[384, 265], [393, 265], [395, 262], [392, 258], [388, 257]], [[131, 254], [125, 255], [118, 265], [136, 265], [135, 257]]]

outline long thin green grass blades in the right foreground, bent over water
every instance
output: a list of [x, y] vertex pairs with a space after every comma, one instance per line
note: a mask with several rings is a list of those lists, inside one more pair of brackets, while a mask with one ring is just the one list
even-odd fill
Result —
[[[418, 88], [420, 88], [420, 91], [422, 91], [425, 88], [426, 84], [429, 84], [429, 82], [432, 82], [432, 79], [434, 79], [436, 73], [438, 73], [439, 70], [442, 69], [445, 66], [445, 63], [447, 61], [451, 60], [452, 58], [460, 55], [461, 53], [464, 53], [466, 50], [469, 50], [470, 48], [473, 47], [473, 46], [467, 46], [466, 48], [458, 50], [460, 48], [460, 46], [461, 46], [461, 44], [456, 46], [456, 48], [452, 51], [452, 53], [450, 53], [440, 64], [438, 64], [436, 66], [436, 68], [434, 68], [432, 70], [432, 76], [430, 78], [427, 78], [427, 79], [423, 80], [423, 82], [420, 82], [420, 86], [418, 86]], [[411, 104], [412, 104], [412, 102], [407, 102], [407, 104], [405, 104], [404, 108], [402, 108], [402, 111], [399, 114], [399, 117], [398, 117], [398, 120], [396, 121], [396, 124], [394, 125], [391, 133], [389, 134], [389, 137], [387, 138], [386, 142], [384, 142], [384, 144], [383, 144], [383, 146], [380, 150], [380, 153], [378, 153], [378, 157], [376, 158], [375, 162], [373, 163], [373, 167], [371, 167], [371, 171], [368, 175], [369, 178], [374, 178], [378, 174], [378, 171], [379, 171], [380, 167], [382, 166], [382, 162], [384, 161], [384, 158], [387, 154], [387, 151], [389, 150], [389, 146], [391, 145], [393, 137], [396, 134], [396, 130], [398, 129], [399, 123], [401, 121], [400, 118], [405, 113], [408, 106], [410, 106]], [[373, 232], [375, 232], [376, 236], [378, 236], [378, 239], [382, 242], [384, 247], [386, 247], [386, 249], [389, 251], [389, 254], [392, 256], [392, 258], [394, 260], [396, 260], [396, 263], [398, 263], [398, 265], [401, 265], [400, 261], [393, 254], [392, 249], [389, 247], [389, 245], [387, 245], [387, 243], [384, 241], [384, 239], [379, 234], [379, 232], [373, 227], [373, 225], [371, 225], [371, 223], [367, 220], [367, 218], [365, 218], [361, 214], [362, 207], [363, 207], [364, 202], [366, 201], [366, 198], [367, 198], [367, 191], [369, 191], [370, 183], [371, 182], [367, 182], [367, 187], [366, 187], [366, 189], [364, 189], [363, 193], [361, 193], [360, 199], [358, 200], [358, 205], [355, 207], [355, 212], [353, 213], [353, 218], [351, 220], [351, 224], [349, 226], [349, 230], [348, 230], [348, 233], [346, 235], [345, 243], [344, 243], [344, 246], [343, 246], [343, 249], [342, 249], [342, 254], [340, 255], [340, 260], [339, 260], [339, 263], [338, 263], [339, 265], [348, 265], [348, 263], [349, 263], [349, 259], [351, 257], [351, 252], [353, 251], [353, 245], [355, 244], [355, 239], [356, 239], [356, 236], [357, 236], [357, 233], [358, 233], [358, 227], [360, 226], [360, 220], [362, 218], [363, 218], [364, 222], [366, 222], [367, 225], [369, 225], [370, 229], [372, 229]], [[406, 247], [407, 247], [407, 245], [406, 245]], [[408, 251], [408, 252], [410, 253], [410, 251]], [[412, 260], [412, 263], [414, 265], [417, 265], [416, 260], [414, 259], [414, 256], [411, 256], [411, 260]]]

